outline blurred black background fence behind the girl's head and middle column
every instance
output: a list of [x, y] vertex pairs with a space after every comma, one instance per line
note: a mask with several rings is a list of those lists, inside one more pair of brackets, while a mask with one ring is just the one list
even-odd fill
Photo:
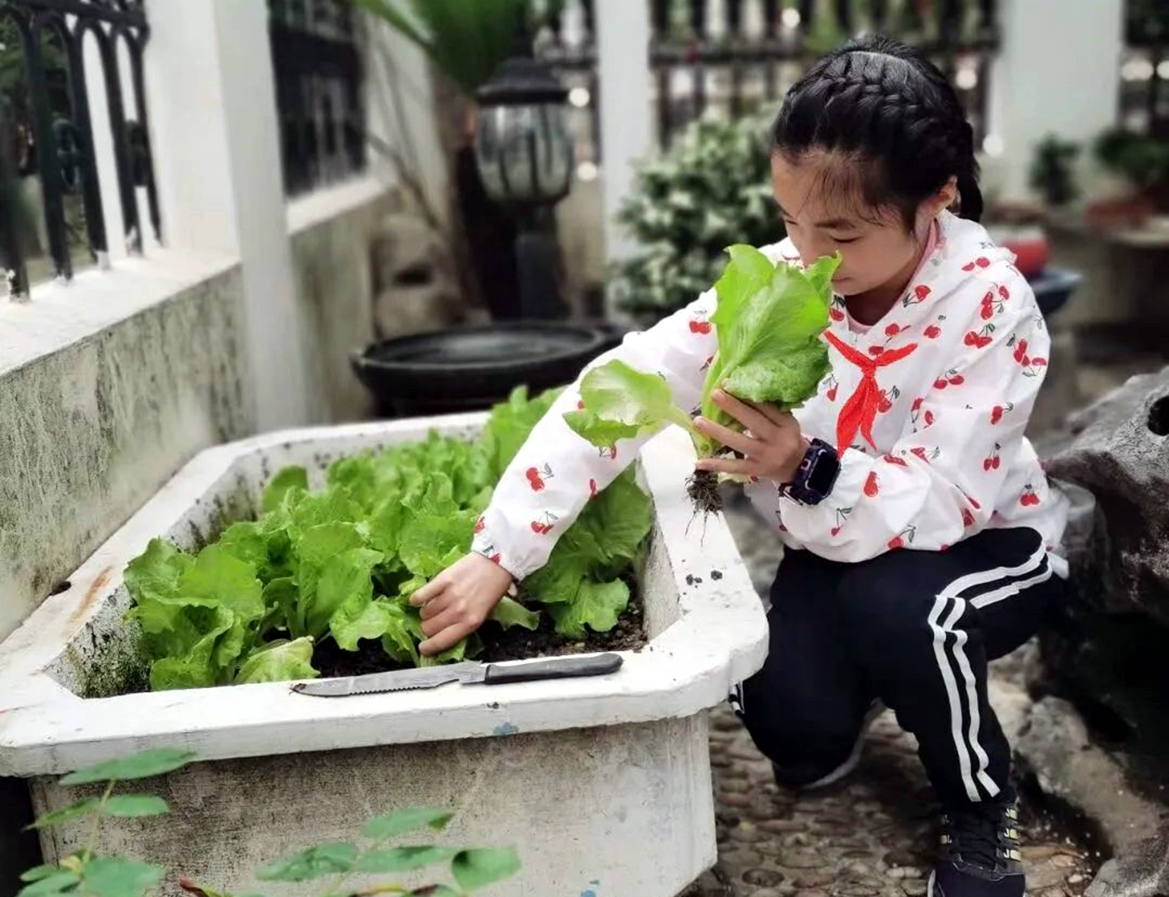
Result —
[[[957, 88], [977, 140], [987, 130], [990, 63], [999, 46], [996, 0], [631, 0], [649, 4], [648, 68], [657, 138], [666, 146], [708, 109], [731, 116], [777, 101], [818, 56], [880, 32], [925, 48]], [[569, 0], [540, 46], [575, 92], [577, 154], [601, 156], [595, 0]], [[583, 23], [583, 26], [582, 26]]]

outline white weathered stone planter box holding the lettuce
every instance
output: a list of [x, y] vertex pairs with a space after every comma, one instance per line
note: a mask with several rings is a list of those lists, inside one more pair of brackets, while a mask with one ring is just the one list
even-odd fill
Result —
[[[191, 547], [250, 517], [284, 464], [319, 483], [343, 455], [431, 428], [472, 436], [484, 419], [295, 430], [196, 456], [0, 644], [0, 775], [29, 778], [43, 813], [78, 796], [60, 773], [194, 751], [200, 763], [148, 784], [173, 813], [109, 820], [103, 848], [219, 888], [270, 892], [250, 872], [289, 850], [355, 836], [387, 809], [442, 806], [458, 810], [444, 841], [519, 850], [521, 874], [492, 895], [680, 891], [715, 858], [705, 711], [762, 665], [767, 623], [722, 518], [692, 520], [693, 454], [676, 428], [642, 454], [656, 509], [639, 572], [650, 643], [616, 674], [340, 699], [286, 683], [83, 697], [112, 694], [134, 665], [122, 571], [152, 537]], [[46, 834], [47, 857], [79, 837]]]

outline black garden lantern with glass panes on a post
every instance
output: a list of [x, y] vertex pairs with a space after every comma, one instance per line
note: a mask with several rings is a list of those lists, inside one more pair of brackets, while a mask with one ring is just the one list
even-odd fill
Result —
[[519, 225], [520, 312], [527, 318], [561, 318], [552, 208], [572, 186], [568, 90], [547, 67], [518, 55], [479, 88], [476, 98], [479, 178], [487, 195], [506, 206]]

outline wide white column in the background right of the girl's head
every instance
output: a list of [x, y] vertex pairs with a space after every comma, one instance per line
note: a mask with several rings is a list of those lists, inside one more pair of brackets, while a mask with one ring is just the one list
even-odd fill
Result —
[[985, 175], [1003, 199], [1030, 194], [1028, 170], [1047, 134], [1084, 144], [1116, 124], [1123, 0], [1002, 0]]

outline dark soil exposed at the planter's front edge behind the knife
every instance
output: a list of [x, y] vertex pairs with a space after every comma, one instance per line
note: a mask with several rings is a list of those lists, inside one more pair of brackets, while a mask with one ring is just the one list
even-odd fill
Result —
[[[487, 621], [479, 629], [479, 637], [483, 639], [483, 651], [475, 660], [484, 662], [594, 651], [638, 651], [645, 647], [642, 605], [636, 595], [630, 596], [629, 607], [617, 617], [616, 627], [608, 633], [590, 633], [583, 641], [556, 633], [547, 613], [541, 614], [540, 627], [535, 630], [518, 626], [504, 629], [499, 623]], [[332, 639], [317, 646], [312, 665], [320, 670], [321, 678], [406, 669], [386, 656], [379, 641], [362, 641], [358, 650], [344, 651]]]

